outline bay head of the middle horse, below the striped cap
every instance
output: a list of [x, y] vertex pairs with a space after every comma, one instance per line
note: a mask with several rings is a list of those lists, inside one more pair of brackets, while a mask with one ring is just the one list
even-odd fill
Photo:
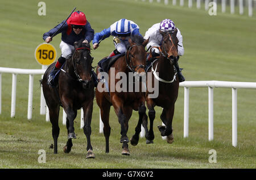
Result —
[[133, 73], [145, 73], [146, 65], [146, 51], [145, 47], [148, 43], [148, 40], [144, 40], [142, 36], [131, 36], [129, 38], [130, 47], [126, 51], [126, 63], [127, 67]]

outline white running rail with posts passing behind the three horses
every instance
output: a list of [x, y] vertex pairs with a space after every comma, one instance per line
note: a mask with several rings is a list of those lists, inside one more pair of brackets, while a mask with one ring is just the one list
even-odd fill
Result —
[[[33, 98], [33, 83], [35, 74], [44, 74], [46, 66], [42, 69], [16, 69], [0, 67], [0, 114], [2, 110], [2, 73], [12, 73], [13, 82], [11, 90], [11, 118], [15, 116], [16, 104], [16, 79], [17, 74], [29, 74], [28, 84], [28, 112], [27, 118], [32, 118], [32, 98]], [[180, 83], [180, 87], [184, 87], [184, 137], [188, 137], [188, 119], [189, 119], [189, 88], [191, 87], [208, 87], [208, 121], [209, 121], [209, 141], [213, 140], [213, 88], [223, 87], [232, 88], [232, 145], [237, 146], [237, 89], [256, 89], [256, 82], [230, 82], [230, 81], [184, 81]], [[41, 89], [40, 114], [46, 114], [46, 121], [49, 121], [48, 108], [43, 97]], [[83, 112], [81, 110], [81, 125], [84, 127]], [[63, 124], [66, 123], [67, 115], [63, 111]], [[143, 128], [142, 128], [143, 129]], [[103, 132], [103, 123], [100, 119], [100, 132]], [[144, 131], [141, 137], [144, 136]]]

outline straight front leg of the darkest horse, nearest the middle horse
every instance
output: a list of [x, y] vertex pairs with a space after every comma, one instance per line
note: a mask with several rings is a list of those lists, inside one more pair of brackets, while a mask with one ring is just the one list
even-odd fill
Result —
[[84, 133], [87, 139], [87, 148], [88, 153], [86, 154], [86, 158], [95, 158], [94, 153], [92, 152], [93, 148], [90, 144], [90, 135], [92, 133], [92, 129], [90, 127], [90, 123], [92, 122], [92, 111], [93, 111], [93, 99], [89, 101], [89, 103], [85, 104], [82, 107], [84, 110]]

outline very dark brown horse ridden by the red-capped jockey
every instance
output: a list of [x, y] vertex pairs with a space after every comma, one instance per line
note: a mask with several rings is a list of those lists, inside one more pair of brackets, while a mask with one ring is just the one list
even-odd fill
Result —
[[49, 73], [55, 66], [51, 64], [42, 79], [43, 94], [49, 108], [49, 119], [52, 124], [52, 137], [54, 141], [54, 154], [57, 154], [57, 139], [59, 137], [59, 110], [63, 107], [67, 114], [68, 141], [64, 146], [64, 152], [71, 152], [72, 139], [76, 139], [73, 120], [77, 116], [77, 110], [84, 111], [84, 133], [87, 139], [86, 158], [94, 158], [93, 148], [90, 144], [92, 133], [90, 123], [92, 120], [94, 82], [92, 81], [92, 61], [90, 45], [82, 43], [82, 40], [74, 43], [75, 52], [67, 58], [64, 68], [60, 70], [56, 86], [51, 87], [47, 83]]

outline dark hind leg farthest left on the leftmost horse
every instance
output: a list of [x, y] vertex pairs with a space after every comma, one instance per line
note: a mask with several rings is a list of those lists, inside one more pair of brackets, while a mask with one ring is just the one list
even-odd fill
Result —
[[54, 154], [57, 154], [57, 139], [60, 134], [60, 127], [59, 127], [59, 111], [60, 106], [57, 104], [56, 106], [49, 107], [49, 119], [52, 123], [52, 137], [54, 142]]

